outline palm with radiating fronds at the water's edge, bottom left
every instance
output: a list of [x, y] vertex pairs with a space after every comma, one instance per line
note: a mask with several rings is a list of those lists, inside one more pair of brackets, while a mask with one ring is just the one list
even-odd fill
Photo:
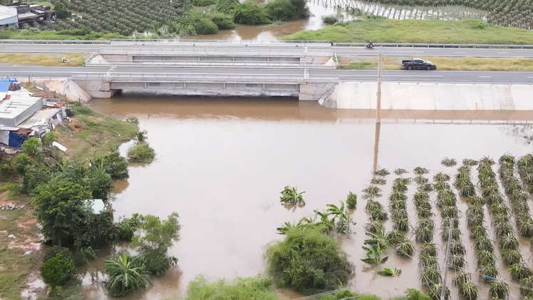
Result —
[[115, 259], [105, 260], [105, 273], [109, 276], [106, 288], [117, 295], [124, 295], [128, 291], [145, 288], [150, 284], [150, 272], [145, 271], [140, 257], [128, 257], [125, 252]]

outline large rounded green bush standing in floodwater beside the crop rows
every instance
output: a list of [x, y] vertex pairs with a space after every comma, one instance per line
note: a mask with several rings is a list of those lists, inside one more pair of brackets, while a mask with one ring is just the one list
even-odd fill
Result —
[[279, 286], [290, 286], [304, 294], [317, 294], [348, 284], [353, 264], [337, 242], [320, 228], [294, 228], [284, 241], [266, 252], [269, 273]]

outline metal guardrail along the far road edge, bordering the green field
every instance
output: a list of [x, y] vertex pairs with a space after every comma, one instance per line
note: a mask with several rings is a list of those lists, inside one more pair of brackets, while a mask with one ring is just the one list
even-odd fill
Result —
[[[333, 43], [333, 46], [361, 47], [367, 43]], [[490, 44], [490, 43], [374, 43], [374, 47], [408, 47], [408, 48], [515, 48], [533, 49], [533, 45]]]

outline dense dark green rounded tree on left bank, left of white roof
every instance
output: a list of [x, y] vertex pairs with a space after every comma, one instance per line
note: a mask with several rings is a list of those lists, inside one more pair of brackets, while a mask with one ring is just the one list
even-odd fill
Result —
[[59, 247], [63, 242], [73, 243], [80, 219], [87, 214], [88, 207], [83, 202], [87, 199], [90, 199], [87, 188], [73, 182], [51, 180], [36, 187], [31, 202], [44, 237]]

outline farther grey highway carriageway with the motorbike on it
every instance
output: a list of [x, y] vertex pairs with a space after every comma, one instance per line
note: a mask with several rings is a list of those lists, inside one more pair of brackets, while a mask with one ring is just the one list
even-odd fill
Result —
[[[308, 44], [309, 45], [309, 44]], [[303, 46], [298, 44], [274, 44], [274, 45], [239, 45], [239, 44], [151, 44], [151, 45], [132, 45], [131, 43], [123, 44], [1, 44], [0, 52], [4, 53], [93, 53], [98, 50], [102, 51], [172, 51], [177, 49], [184, 49], [188, 51], [230, 51], [235, 49], [236, 52], [242, 53], [246, 49], [251, 52], [263, 49], [264, 51], [283, 51], [289, 48], [295, 49], [298, 46], [301, 49]], [[267, 50], [268, 49], [268, 50]], [[299, 50], [298, 49], [298, 50]], [[296, 50], [296, 49], [295, 49]], [[347, 47], [347, 46], [306, 46], [305, 50], [308, 55], [325, 55], [329, 56], [331, 53], [336, 53], [338, 56], [377, 56], [378, 48], [367, 49], [364, 47]], [[447, 56], [447, 57], [490, 57], [490, 58], [505, 58], [505, 57], [523, 57], [533, 58], [532, 49], [488, 49], [488, 48], [393, 48], [383, 47], [383, 55], [385, 56]]]

